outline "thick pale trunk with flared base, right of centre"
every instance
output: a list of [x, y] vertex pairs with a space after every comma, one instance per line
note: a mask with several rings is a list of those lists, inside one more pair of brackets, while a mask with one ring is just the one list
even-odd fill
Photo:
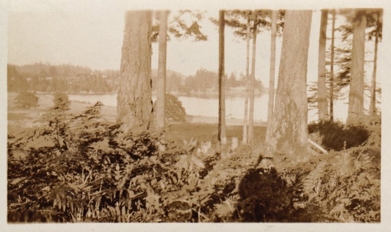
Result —
[[308, 155], [306, 76], [311, 18], [310, 10], [285, 12], [276, 105], [268, 123], [264, 157], [273, 157], [284, 147], [288, 149], [282, 153], [291, 157]]

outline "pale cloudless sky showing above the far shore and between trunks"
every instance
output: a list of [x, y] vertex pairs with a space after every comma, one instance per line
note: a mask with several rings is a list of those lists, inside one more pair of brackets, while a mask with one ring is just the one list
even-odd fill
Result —
[[[23, 1], [22, 1], [23, 2]], [[109, 1], [36, 1], [34, 4], [11, 4], [8, 14], [8, 63], [29, 64], [50, 62], [71, 63], [92, 69], [119, 69], [123, 41], [124, 14], [129, 9]], [[118, 3], [118, 2], [117, 2]], [[27, 5], [27, 6], [26, 6]], [[172, 9], [172, 8], [170, 8]], [[201, 9], [203, 10], [203, 9]], [[208, 9], [205, 9], [208, 10]], [[170, 17], [176, 15], [172, 10]], [[167, 47], [167, 68], [185, 75], [195, 74], [199, 68], [217, 71], [218, 33], [209, 17], [218, 17], [218, 8], [206, 12], [199, 24], [208, 36], [208, 41], [172, 39]], [[169, 19], [169, 21], [171, 21]], [[312, 15], [310, 45], [308, 52], [307, 80], [316, 81], [318, 62], [320, 11]], [[328, 29], [331, 28], [331, 23]], [[245, 73], [246, 43], [235, 38], [226, 27], [225, 71], [230, 74]], [[328, 34], [330, 36], [330, 33]], [[251, 45], [251, 43], [250, 43]], [[277, 39], [276, 78], [278, 76], [282, 38]], [[373, 43], [367, 42], [367, 58], [373, 59]], [[157, 68], [157, 43], [152, 45], [152, 68]], [[379, 67], [382, 66], [382, 49], [379, 45]], [[270, 32], [257, 37], [256, 78], [265, 86], [269, 80]], [[251, 57], [251, 47], [250, 47]], [[250, 66], [251, 70], [251, 66]], [[366, 66], [370, 78], [372, 65]], [[382, 69], [378, 68], [381, 80]], [[369, 79], [368, 79], [369, 80]], [[277, 82], [276, 82], [277, 84]]]

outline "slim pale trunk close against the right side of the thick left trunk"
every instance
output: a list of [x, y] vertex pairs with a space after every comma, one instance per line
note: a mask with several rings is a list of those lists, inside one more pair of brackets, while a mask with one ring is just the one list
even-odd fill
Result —
[[167, 58], [167, 16], [168, 11], [159, 11], [159, 59], [156, 83], [156, 129], [166, 124], [166, 58]]

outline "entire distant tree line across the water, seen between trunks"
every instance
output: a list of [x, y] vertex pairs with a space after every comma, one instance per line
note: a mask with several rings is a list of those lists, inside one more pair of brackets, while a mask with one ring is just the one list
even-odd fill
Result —
[[[152, 70], [152, 83], [156, 83], [157, 73]], [[106, 93], [118, 90], [118, 70], [91, 70], [79, 65], [34, 63], [28, 65], [7, 65], [7, 87], [9, 92], [39, 91], [67, 93]], [[245, 76], [232, 72], [226, 74], [226, 89], [245, 87]], [[156, 85], [152, 85], [155, 91]], [[185, 76], [167, 70], [167, 93], [205, 93], [217, 91], [217, 73], [198, 69], [194, 75]], [[255, 88], [262, 91], [262, 83], [255, 80]]]

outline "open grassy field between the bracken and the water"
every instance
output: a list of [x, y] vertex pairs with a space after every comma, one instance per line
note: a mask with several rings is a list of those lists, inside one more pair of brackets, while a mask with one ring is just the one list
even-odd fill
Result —
[[[42, 125], [41, 120], [43, 114], [49, 107], [53, 106], [53, 95], [39, 94], [39, 106], [31, 109], [20, 109], [14, 104], [16, 93], [8, 93], [8, 134], [22, 132], [26, 128], [34, 128]], [[92, 106], [89, 103], [71, 101], [71, 114], [82, 113], [87, 107]], [[116, 117], [116, 108], [102, 106], [102, 117], [109, 122], [114, 122]], [[173, 139], [190, 139], [196, 138], [198, 141], [217, 141], [217, 117], [206, 116], [186, 116], [186, 122], [170, 122], [167, 128], [167, 136]], [[227, 139], [230, 141], [232, 137], [242, 139], [242, 129], [240, 125], [242, 119], [226, 119], [227, 123]], [[256, 141], [264, 141], [265, 122], [255, 122], [254, 136]]]

